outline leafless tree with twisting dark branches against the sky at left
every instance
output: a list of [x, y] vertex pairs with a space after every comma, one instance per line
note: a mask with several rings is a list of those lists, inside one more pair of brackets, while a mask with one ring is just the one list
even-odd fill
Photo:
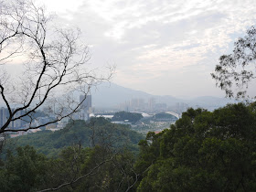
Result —
[[[105, 76], [89, 68], [89, 50], [80, 42], [79, 29], [51, 27], [51, 22], [45, 9], [30, 0], [11, 0], [1, 5], [0, 65], [8, 67], [9, 62], [15, 61], [23, 66], [24, 72], [18, 80], [0, 80], [0, 101], [5, 102], [8, 110], [0, 133], [27, 132], [58, 123], [80, 111], [82, 101], [71, 99], [73, 91], [86, 98], [91, 86], [112, 77], [113, 68]], [[59, 91], [62, 94], [58, 95]], [[32, 126], [33, 114], [43, 108], [48, 108], [53, 118]], [[28, 127], [11, 127], [16, 121], [26, 122]]]

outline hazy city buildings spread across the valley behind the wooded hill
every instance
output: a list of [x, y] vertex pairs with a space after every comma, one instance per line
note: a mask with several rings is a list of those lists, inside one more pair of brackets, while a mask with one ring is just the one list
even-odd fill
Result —
[[[30, 122], [30, 119], [26, 121], [26, 117], [22, 119], [17, 119], [16, 121], [9, 124], [9, 128], [12, 129], [25, 129], [29, 126], [37, 127], [39, 126], [39, 129], [31, 129], [28, 132], [17, 132], [16, 134], [10, 134], [11, 137], [16, 137], [18, 135], [22, 135], [25, 133], [35, 133], [37, 131], [41, 130], [50, 130], [50, 131], [57, 131], [59, 129], [62, 129], [66, 126], [67, 123], [69, 123], [70, 118], [73, 120], [84, 120], [88, 121], [90, 120], [91, 116], [104, 116], [102, 114], [93, 114], [92, 113], [92, 105], [91, 105], [91, 95], [80, 95], [79, 97], [80, 101], [80, 109], [78, 112], [75, 112], [71, 115], [71, 117], [67, 116], [63, 119], [61, 119], [58, 123], [49, 123], [50, 121], [54, 120], [56, 117], [54, 114], [51, 114], [47, 110], [43, 109], [42, 112], [39, 112], [41, 116], [37, 116], [37, 118], [33, 119], [32, 122]], [[176, 119], [178, 119], [179, 115], [181, 115], [181, 112], [187, 111], [188, 105], [183, 102], [176, 102], [173, 106], [167, 106], [166, 103], [160, 103], [156, 102], [155, 98], [149, 98], [147, 101], [144, 99], [132, 99], [130, 101], [125, 101], [122, 104], [119, 105], [119, 111], [126, 111], [126, 112], [141, 112], [144, 116], [144, 121], [139, 121], [136, 124], [132, 124], [128, 122], [128, 120], [124, 120], [123, 122], [113, 122], [113, 123], [123, 123], [123, 124], [131, 124], [131, 126], [136, 126], [138, 129], [142, 129], [142, 131], [147, 129], [150, 126], [155, 126], [157, 129], [162, 129], [163, 127], [166, 127], [169, 123], [174, 123]], [[14, 110], [13, 110], [14, 111]], [[67, 109], [68, 111], [68, 109]], [[44, 114], [44, 112], [47, 112], [48, 115]], [[17, 112], [15, 117], [18, 117], [22, 114], [25, 114], [25, 112], [20, 111]], [[112, 118], [114, 112], [105, 112], [106, 118]], [[6, 108], [0, 109], [0, 127], [3, 126], [6, 123], [6, 120], [8, 119], [9, 112]], [[29, 123], [28, 123], [29, 122]], [[41, 127], [40, 125], [46, 124], [46, 126]]]

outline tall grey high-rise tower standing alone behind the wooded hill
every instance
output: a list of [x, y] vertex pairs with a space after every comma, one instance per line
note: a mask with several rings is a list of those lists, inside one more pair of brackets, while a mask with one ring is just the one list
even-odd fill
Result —
[[91, 113], [91, 95], [80, 95], [80, 119], [87, 121]]

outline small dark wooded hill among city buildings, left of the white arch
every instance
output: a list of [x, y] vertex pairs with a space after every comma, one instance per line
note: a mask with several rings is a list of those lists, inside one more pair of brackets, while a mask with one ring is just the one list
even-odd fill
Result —
[[130, 123], [136, 123], [142, 118], [143, 118], [143, 115], [137, 112], [115, 112], [112, 117], [112, 121], [128, 120]]

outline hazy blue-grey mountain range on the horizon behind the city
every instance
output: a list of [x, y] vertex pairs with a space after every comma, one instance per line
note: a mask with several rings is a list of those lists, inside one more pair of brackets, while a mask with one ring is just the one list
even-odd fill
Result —
[[92, 106], [95, 108], [113, 108], [120, 103], [131, 101], [132, 99], [144, 99], [144, 101], [148, 101], [151, 98], [155, 98], [156, 103], [166, 103], [168, 106], [173, 106], [176, 105], [176, 103], [183, 102], [189, 107], [202, 107], [208, 110], [213, 110], [222, 107], [227, 103], [235, 102], [235, 100], [212, 96], [203, 96], [192, 100], [184, 100], [170, 95], [152, 95], [144, 91], [136, 91], [124, 88], [115, 83], [107, 82], [101, 83], [101, 85], [91, 89], [91, 97]]

